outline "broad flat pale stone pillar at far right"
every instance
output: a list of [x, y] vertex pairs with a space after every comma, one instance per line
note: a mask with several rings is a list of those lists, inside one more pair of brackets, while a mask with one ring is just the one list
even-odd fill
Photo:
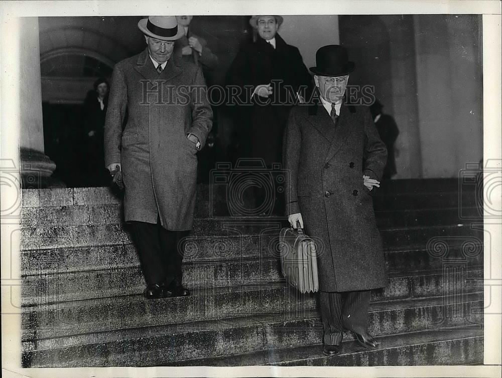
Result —
[[414, 15], [423, 177], [458, 177], [482, 158], [477, 15]]

